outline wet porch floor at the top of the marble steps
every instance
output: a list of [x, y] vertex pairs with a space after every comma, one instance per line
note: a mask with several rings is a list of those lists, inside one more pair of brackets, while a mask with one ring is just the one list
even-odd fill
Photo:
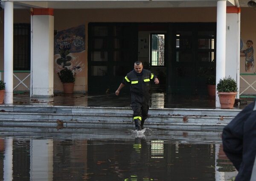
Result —
[[[241, 99], [241, 104], [234, 109], [243, 109], [253, 99]], [[114, 93], [91, 95], [84, 93], [56, 93], [51, 98], [30, 98], [29, 93], [14, 95], [14, 105], [64, 105], [90, 107], [130, 107], [129, 94]], [[181, 96], [166, 93], [152, 93], [150, 107], [154, 108], [215, 108], [215, 97], [210, 96]]]

